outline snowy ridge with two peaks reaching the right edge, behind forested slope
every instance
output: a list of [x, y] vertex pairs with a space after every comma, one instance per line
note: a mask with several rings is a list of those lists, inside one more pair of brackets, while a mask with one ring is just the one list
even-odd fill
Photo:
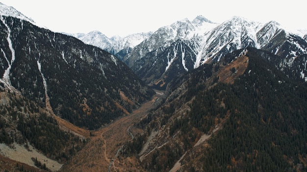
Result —
[[[276, 21], [262, 24], [235, 16], [205, 34], [206, 40], [203, 49], [197, 55], [194, 68], [207, 61], [219, 61], [221, 57], [233, 50], [248, 46], [284, 56], [306, 54], [306, 41], [302, 45], [302, 40], [293, 34], [295, 35]], [[286, 52], [285, 48], [296, 50]]]

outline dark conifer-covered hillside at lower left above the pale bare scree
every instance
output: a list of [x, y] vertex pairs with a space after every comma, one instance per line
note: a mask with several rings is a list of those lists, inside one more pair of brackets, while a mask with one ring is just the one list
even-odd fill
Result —
[[[61, 130], [46, 109], [21, 96], [20, 93], [8, 91], [2, 86], [0, 109], [0, 143], [13, 147], [15, 142], [23, 145], [28, 151], [29, 147], [33, 146], [48, 158], [66, 163], [87, 142], [86, 138]], [[41, 164], [39, 168], [43, 168], [44, 162], [37, 163]]]

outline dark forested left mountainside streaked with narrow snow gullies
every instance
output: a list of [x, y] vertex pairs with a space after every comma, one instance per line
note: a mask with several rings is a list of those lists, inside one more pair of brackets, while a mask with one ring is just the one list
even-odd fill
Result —
[[1, 82], [77, 126], [96, 129], [153, 95], [115, 56], [1, 16]]

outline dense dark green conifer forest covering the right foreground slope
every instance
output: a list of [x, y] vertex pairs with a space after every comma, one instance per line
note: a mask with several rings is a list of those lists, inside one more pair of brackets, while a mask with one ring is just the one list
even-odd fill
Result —
[[206, 97], [211, 101], [223, 98], [225, 109], [230, 110], [223, 129], [209, 140], [204, 171], [297, 170], [293, 167], [306, 171], [302, 165], [307, 152], [306, 83], [291, 81], [253, 53], [248, 56], [249, 67], [233, 85], [218, 84], [196, 96], [192, 104], [192, 119], [200, 113], [203, 118], [225, 114], [212, 106], [197, 112], [200, 102], [210, 107]]

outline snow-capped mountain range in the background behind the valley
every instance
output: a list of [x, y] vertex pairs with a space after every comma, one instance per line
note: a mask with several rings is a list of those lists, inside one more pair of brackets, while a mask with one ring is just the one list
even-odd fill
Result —
[[[89, 34], [97, 38], [95, 32]], [[289, 61], [290, 57], [306, 54], [306, 34], [306, 31], [291, 32], [276, 21], [260, 23], [235, 16], [218, 24], [198, 16], [193, 21], [184, 19], [149, 33], [150, 36], [143, 37], [141, 43], [129, 46], [132, 49], [123, 48], [125, 54], [120, 57], [145, 83], [165, 89], [175, 76], [204, 63], [219, 61], [226, 54], [248, 46], [280, 55]], [[86, 42], [86, 39], [83, 41]], [[92, 44], [102, 47], [102, 43]], [[104, 49], [113, 53], [109, 47]], [[294, 67], [287, 64], [291, 63], [276, 65]], [[302, 73], [301, 78], [307, 80], [306, 67], [298, 70]]]

